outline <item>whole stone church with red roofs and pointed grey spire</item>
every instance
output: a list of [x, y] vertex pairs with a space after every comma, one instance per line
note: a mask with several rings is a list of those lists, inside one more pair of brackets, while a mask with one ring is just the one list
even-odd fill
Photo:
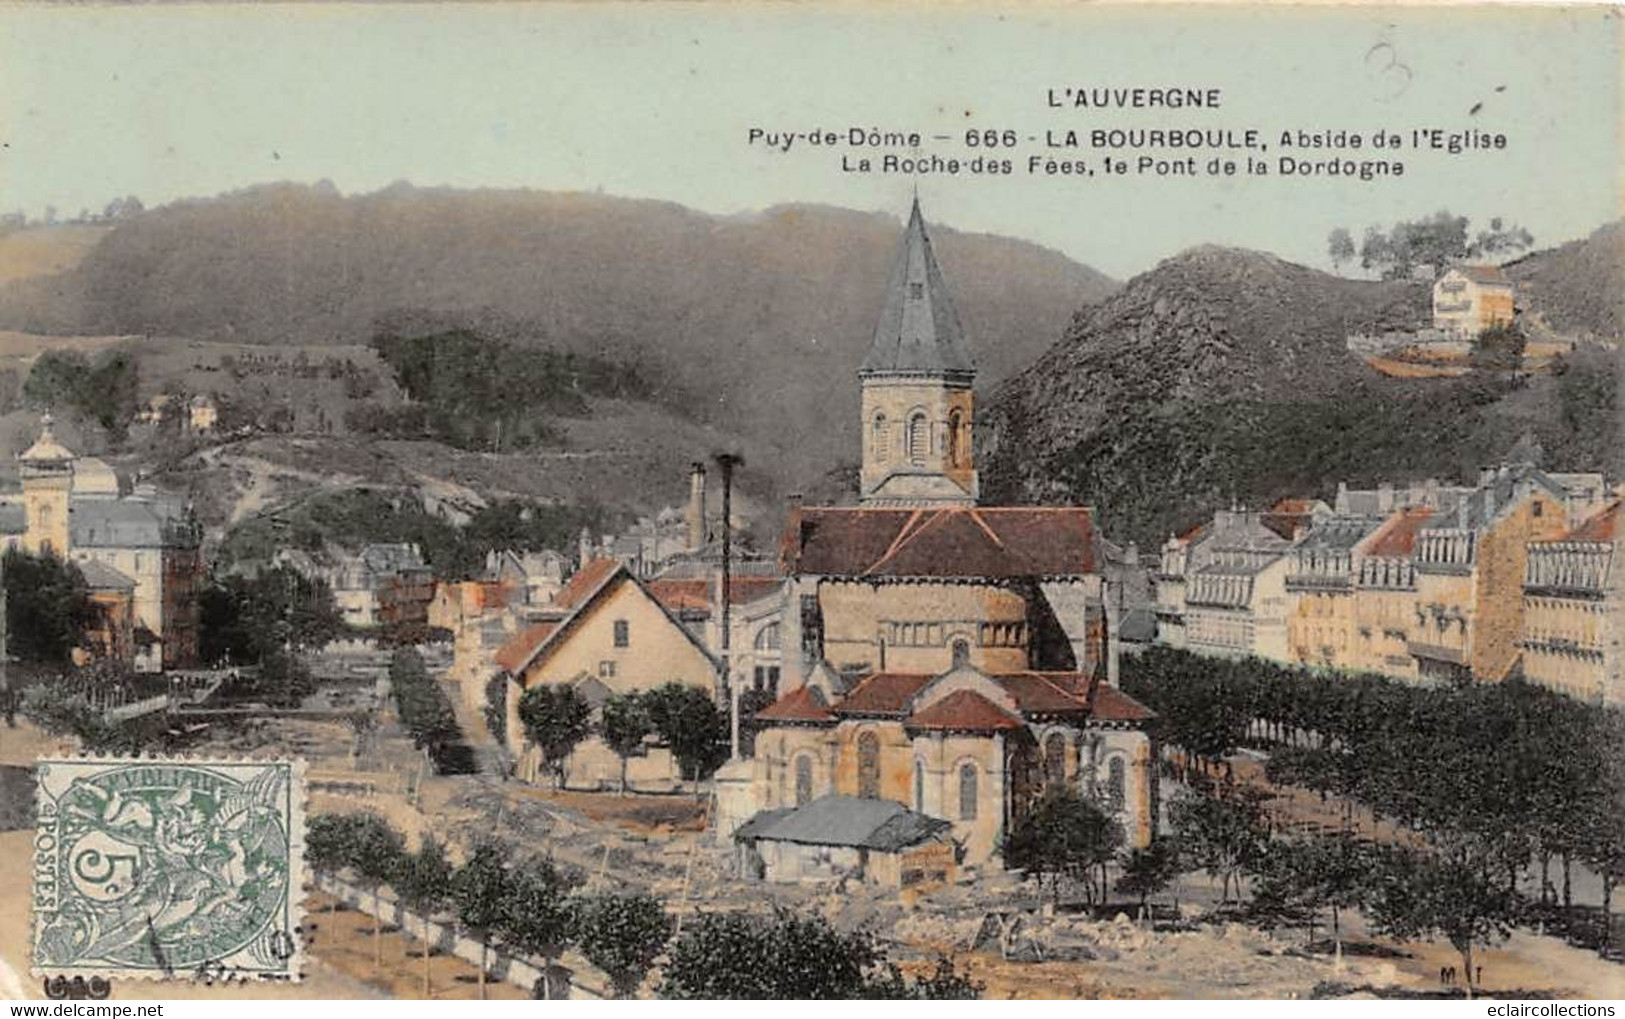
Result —
[[1152, 713], [1116, 687], [1094, 514], [980, 504], [973, 380], [915, 202], [858, 371], [858, 505], [790, 507], [782, 696], [754, 717], [744, 803], [720, 783], [720, 827], [769, 878], [861, 869], [876, 843], [845, 845], [840, 829], [864, 826], [838, 817], [871, 800], [905, 808], [889, 830], [946, 826], [964, 866], [998, 866], [1053, 788], [1097, 803], [1128, 845], [1150, 840]]

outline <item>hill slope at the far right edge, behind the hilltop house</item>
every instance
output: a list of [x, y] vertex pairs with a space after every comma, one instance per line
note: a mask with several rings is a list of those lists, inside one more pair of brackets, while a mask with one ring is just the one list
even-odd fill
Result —
[[1625, 221], [1506, 263], [1523, 302], [1562, 332], [1625, 338]]

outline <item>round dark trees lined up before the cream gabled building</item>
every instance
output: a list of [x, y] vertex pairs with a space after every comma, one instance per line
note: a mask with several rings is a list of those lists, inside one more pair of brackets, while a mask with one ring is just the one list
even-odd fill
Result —
[[[504, 739], [507, 712], [505, 674], [486, 686], [486, 723]], [[621, 791], [632, 757], [647, 752], [650, 741], [671, 751], [684, 778], [699, 783], [728, 759], [728, 718], [710, 694], [682, 683], [666, 683], [652, 691], [609, 694], [593, 709], [570, 686], [538, 684], [518, 699], [518, 720], [525, 739], [541, 754], [543, 769], [562, 785], [570, 754], [588, 736], [598, 736], [621, 757]], [[517, 748], [514, 748], [517, 749]]]

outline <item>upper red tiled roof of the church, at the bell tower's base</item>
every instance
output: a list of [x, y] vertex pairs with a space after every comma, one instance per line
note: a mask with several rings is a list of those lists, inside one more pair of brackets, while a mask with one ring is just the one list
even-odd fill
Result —
[[814, 507], [793, 512], [785, 572], [830, 577], [1076, 577], [1097, 569], [1082, 507]]

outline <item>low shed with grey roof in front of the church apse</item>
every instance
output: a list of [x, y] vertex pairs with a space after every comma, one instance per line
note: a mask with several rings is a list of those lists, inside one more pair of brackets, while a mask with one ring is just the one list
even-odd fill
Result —
[[944, 884], [957, 866], [952, 824], [892, 800], [819, 796], [795, 809], [760, 811], [733, 839], [739, 871], [775, 882]]

